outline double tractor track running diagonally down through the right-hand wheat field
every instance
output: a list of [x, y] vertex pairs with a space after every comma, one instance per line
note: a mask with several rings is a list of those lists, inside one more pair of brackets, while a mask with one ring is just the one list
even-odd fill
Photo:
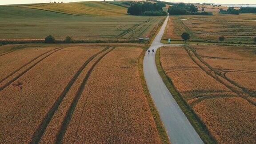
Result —
[[[211, 76], [212, 78], [214, 78], [215, 80], [217, 80], [219, 83], [223, 84], [225, 87], [227, 87], [228, 89], [230, 89], [232, 92], [236, 93], [238, 96], [240, 96], [241, 98], [244, 98], [244, 100], [247, 100], [250, 104], [256, 105], [256, 103], [250, 99], [248, 99], [248, 97], [252, 97], [252, 95], [246, 91], [244, 91], [243, 89], [237, 87], [236, 85], [232, 84], [231, 82], [229, 82], [227, 79], [225, 79], [224, 77], [222, 77], [221, 75], [219, 75], [214, 68], [212, 68], [209, 64], [207, 64], [206, 62], [204, 62], [204, 60], [200, 59], [200, 56], [196, 53], [196, 50], [189, 47], [189, 46], [184, 46], [185, 50], [188, 53], [188, 56], [191, 58], [191, 60], [194, 61], [194, 63], [196, 63], [204, 72], [206, 72], [206, 74], [208, 74], [209, 76]], [[195, 56], [195, 58], [197, 60], [199, 60], [200, 62], [196, 61], [196, 59], [192, 56], [191, 52], [193, 53], [193, 55]], [[202, 64], [199, 64], [202, 63]], [[204, 66], [207, 67], [204, 68]]]

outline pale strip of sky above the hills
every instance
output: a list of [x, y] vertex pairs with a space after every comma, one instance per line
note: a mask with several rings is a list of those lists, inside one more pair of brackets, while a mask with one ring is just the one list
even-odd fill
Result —
[[[0, 0], [0, 5], [3, 4], [32, 4], [32, 3], [49, 3], [49, 2], [75, 2], [88, 0]], [[90, 0], [103, 1], [103, 0]], [[256, 4], [256, 0], [163, 0], [168, 2], [185, 2], [185, 3], [215, 3], [215, 4]]]

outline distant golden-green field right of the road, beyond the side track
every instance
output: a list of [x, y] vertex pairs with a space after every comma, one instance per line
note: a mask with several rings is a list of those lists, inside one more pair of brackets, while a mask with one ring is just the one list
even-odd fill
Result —
[[181, 40], [182, 32], [188, 32], [191, 40], [252, 43], [256, 36], [254, 14], [214, 16], [171, 16], [165, 39]]

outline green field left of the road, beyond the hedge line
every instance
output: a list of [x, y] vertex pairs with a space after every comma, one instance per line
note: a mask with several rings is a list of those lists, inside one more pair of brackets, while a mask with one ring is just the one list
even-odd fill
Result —
[[[68, 4], [74, 3], [66, 5]], [[126, 9], [103, 2], [77, 4], [87, 6], [89, 4], [104, 4]], [[66, 36], [72, 36], [76, 40], [131, 40], [150, 36], [156, 25], [163, 20], [163, 17], [125, 14], [119, 16], [114, 16], [114, 14], [112, 16], [76, 16], [24, 7], [28, 7], [28, 5], [0, 6], [0, 40], [43, 40], [48, 35], [52, 35], [58, 40], [63, 40]], [[92, 6], [91, 8], [97, 11], [98, 7]], [[115, 10], [112, 13], [115, 13]]]

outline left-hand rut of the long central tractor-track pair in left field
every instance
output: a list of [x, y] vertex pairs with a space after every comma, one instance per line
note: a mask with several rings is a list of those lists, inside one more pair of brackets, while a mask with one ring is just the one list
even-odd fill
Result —
[[47, 115], [44, 117], [44, 119], [42, 120], [40, 126], [38, 127], [38, 129], [36, 130], [34, 136], [32, 137], [31, 143], [39, 143], [41, 137], [44, 134], [45, 129], [47, 128], [48, 124], [50, 123], [52, 116], [54, 115], [54, 113], [56, 112], [56, 110], [58, 109], [60, 103], [62, 102], [62, 100], [64, 99], [64, 97], [66, 96], [66, 94], [68, 93], [69, 89], [72, 87], [72, 85], [74, 84], [74, 82], [76, 81], [77, 77], [80, 75], [80, 73], [84, 70], [84, 68], [87, 66], [87, 64], [94, 59], [96, 56], [98, 56], [100, 53], [106, 51], [108, 48], [103, 49], [102, 51], [96, 53], [95, 55], [91, 56], [88, 60], [86, 60], [84, 62], [84, 64], [80, 67], [80, 69], [76, 72], [76, 74], [73, 76], [73, 78], [69, 81], [69, 83], [67, 84], [66, 88], [63, 90], [63, 92], [60, 94], [59, 98], [56, 100], [56, 102], [53, 104], [52, 108], [50, 109], [50, 111], [47, 113]]

